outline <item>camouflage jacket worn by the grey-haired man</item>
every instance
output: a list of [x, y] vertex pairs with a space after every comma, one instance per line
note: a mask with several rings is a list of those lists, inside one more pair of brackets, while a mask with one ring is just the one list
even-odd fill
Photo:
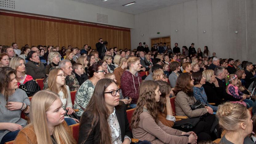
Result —
[[[71, 75], [66, 77], [66, 85], [69, 86], [70, 91], [78, 90], [79, 83], [76, 79], [75, 74], [72, 72]], [[48, 76], [44, 78], [44, 90], [48, 89]]]

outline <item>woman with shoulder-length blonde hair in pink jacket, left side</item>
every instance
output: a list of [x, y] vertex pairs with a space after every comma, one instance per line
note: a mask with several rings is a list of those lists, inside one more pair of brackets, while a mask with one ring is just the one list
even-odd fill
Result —
[[9, 67], [16, 70], [16, 79], [18, 81], [18, 86], [20, 84], [26, 83], [30, 80], [33, 80], [33, 78], [30, 75], [27, 75], [25, 73], [26, 67], [25, 67], [25, 60], [21, 57], [13, 57], [10, 61]]

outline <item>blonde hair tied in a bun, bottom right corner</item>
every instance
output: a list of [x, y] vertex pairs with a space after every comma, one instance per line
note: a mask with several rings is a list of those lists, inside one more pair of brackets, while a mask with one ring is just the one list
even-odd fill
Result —
[[247, 108], [239, 103], [226, 102], [218, 106], [217, 118], [220, 127], [235, 131], [239, 128], [240, 123], [245, 122], [249, 117]]

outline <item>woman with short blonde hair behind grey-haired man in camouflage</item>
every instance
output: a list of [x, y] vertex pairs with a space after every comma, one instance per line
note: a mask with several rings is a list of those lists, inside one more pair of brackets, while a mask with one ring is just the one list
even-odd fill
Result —
[[49, 65], [45, 66], [45, 74], [49, 74], [50, 70], [59, 66], [60, 54], [56, 51], [52, 51], [48, 55]]

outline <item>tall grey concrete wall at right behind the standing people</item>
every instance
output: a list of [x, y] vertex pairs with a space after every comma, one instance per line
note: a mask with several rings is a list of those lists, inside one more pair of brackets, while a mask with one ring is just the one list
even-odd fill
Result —
[[208, 46], [220, 58], [255, 63], [255, 26], [255, 0], [194, 0], [134, 15], [131, 45], [132, 49], [139, 42], [150, 45], [150, 38], [170, 35], [171, 47], [175, 42], [180, 48], [193, 42], [196, 49]]

